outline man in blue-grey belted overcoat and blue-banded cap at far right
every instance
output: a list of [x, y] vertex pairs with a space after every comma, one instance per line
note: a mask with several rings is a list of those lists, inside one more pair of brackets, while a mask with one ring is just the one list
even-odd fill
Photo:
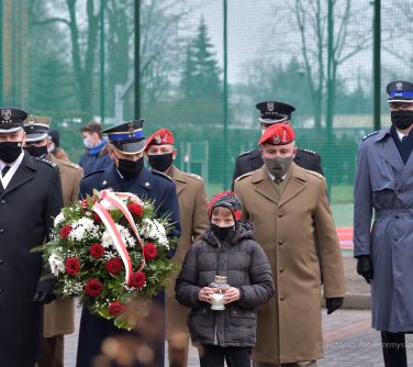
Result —
[[[413, 332], [413, 84], [387, 86], [391, 126], [359, 145], [354, 188], [354, 255], [371, 283], [372, 326], [386, 366], [408, 366], [404, 333]], [[375, 224], [371, 219], [375, 211]]]

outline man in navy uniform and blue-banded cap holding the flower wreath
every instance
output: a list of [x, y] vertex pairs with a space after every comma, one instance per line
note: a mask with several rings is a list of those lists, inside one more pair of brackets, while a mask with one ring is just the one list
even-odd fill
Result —
[[[179, 237], [179, 205], [174, 181], [166, 175], [148, 170], [144, 167], [143, 152], [145, 136], [143, 131], [144, 120], [134, 120], [121, 123], [103, 131], [108, 134], [108, 151], [113, 164], [105, 168], [85, 176], [80, 181], [80, 196], [92, 194], [93, 189], [112, 189], [119, 192], [132, 192], [139, 198], [154, 200], [157, 216], [169, 215], [175, 229], [170, 235]], [[172, 257], [174, 253], [170, 254]], [[164, 308], [165, 294], [160, 292], [155, 303]], [[148, 366], [164, 366], [165, 335], [164, 330], [154, 348], [155, 360]], [[108, 336], [127, 334], [139, 337], [138, 332], [126, 332], [116, 327], [111, 320], [93, 315], [83, 307], [79, 342], [77, 367], [91, 367], [92, 359], [101, 353], [101, 344]], [[141, 335], [144, 336], [144, 335]], [[112, 362], [111, 366], [118, 366]], [[133, 366], [144, 366], [136, 362]], [[145, 365], [146, 366], [146, 365]]]

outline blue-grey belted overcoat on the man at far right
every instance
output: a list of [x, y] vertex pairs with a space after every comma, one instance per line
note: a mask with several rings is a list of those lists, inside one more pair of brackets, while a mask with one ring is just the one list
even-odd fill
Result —
[[372, 326], [412, 332], [413, 154], [404, 165], [389, 127], [360, 143], [354, 194], [355, 256], [373, 265]]

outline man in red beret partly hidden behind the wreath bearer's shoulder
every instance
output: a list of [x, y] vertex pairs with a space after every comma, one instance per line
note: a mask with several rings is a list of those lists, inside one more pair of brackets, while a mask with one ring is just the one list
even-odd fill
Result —
[[[168, 175], [177, 187], [182, 233], [172, 260], [182, 265], [189, 247], [209, 226], [205, 188], [201, 177], [175, 167], [177, 149], [174, 146], [174, 135], [169, 130], [159, 129], [152, 134], [146, 141], [145, 153], [150, 167]], [[169, 365], [186, 367], [190, 340], [187, 319], [190, 310], [175, 299], [175, 280], [176, 277], [170, 280], [166, 291], [166, 337]]]

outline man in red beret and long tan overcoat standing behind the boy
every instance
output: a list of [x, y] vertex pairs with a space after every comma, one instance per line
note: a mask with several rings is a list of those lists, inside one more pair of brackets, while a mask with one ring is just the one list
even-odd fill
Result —
[[258, 310], [253, 359], [257, 367], [313, 367], [323, 357], [321, 270], [328, 314], [342, 307], [345, 296], [326, 182], [293, 163], [297, 147], [290, 124], [267, 129], [258, 145], [264, 166], [238, 177], [235, 191], [244, 219], [253, 223], [256, 241], [270, 260], [278, 297]]

